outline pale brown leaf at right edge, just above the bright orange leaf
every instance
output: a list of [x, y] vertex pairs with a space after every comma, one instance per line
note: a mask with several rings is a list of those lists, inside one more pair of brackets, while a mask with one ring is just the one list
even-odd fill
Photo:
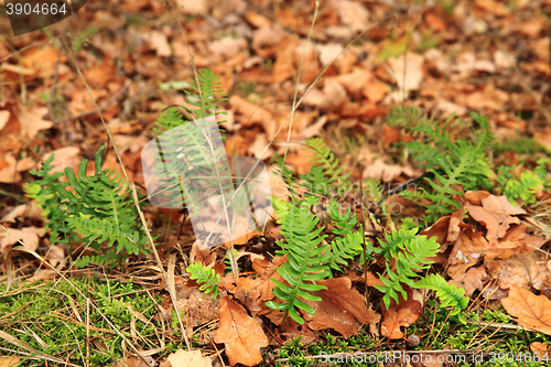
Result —
[[489, 273], [497, 279], [499, 287], [509, 289], [512, 285], [521, 288], [533, 287], [537, 290], [544, 288], [544, 282], [551, 272], [547, 263], [537, 253], [520, 252], [507, 260], [495, 260], [488, 266]]

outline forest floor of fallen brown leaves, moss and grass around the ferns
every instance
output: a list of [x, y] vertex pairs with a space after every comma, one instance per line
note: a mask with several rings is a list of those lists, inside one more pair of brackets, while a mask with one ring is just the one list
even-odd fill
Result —
[[[318, 8], [90, 0], [73, 17], [20, 36], [1, 9], [0, 366], [549, 364], [550, 0], [327, 0]], [[359, 199], [350, 208], [358, 225], [371, 226], [368, 245], [391, 242], [400, 228], [436, 237], [429, 271], [463, 289], [468, 306], [454, 313], [434, 292], [406, 284], [408, 299], [385, 305], [381, 279], [398, 271], [397, 260], [385, 265], [381, 255], [367, 272], [358, 252], [334, 278], [317, 281], [326, 289], [315, 291], [322, 301], [307, 302], [315, 313], [299, 311], [303, 324], [282, 316], [264, 304], [274, 299], [270, 279], [283, 281], [276, 267], [289, 261], [274, 253], [285, 241], [278, 211], [287, 205], [276, 201], [281, 220], [231, 245], [239, 278], [227, 270], [228, 244], [199, 249], [187, 212], [149, 202], [147, 226], [139, 216], [131, 220], [141, 234], [151, 231], [155, 251], [143, 236], [147, 255], [75, 267], [75, 246], [99, 235], [52, 238], [40, 201], [25, 194], [37, 180], [31, 171], [52, 153], [53, 172], [76, 171], [106, 145], [102, 169], [147, 195], [142, 150], [168, 107], [194, 101], [183, 91], [194, 85], [194, 67], [217, 74], [227, 95], [217, 111], [226, 114], [228, 156], [266, 162], [270, 186], [285, 202], [289, 182], [274, 160], [284, 155], [293, 180], [304, 181], [315, 165], [309, 139], [322, 138], [332, 169], [370, 185], [371, 195], [337, 197]], [[487, 118], [487, 129], [473, 112]], [[426, 160], [415, 160], [423, 148], [404, 149], [414, 141], [428, 152], [440, 149], [440, 140], [415, 132], [417, 122], [449, 129], [441, 136], [450, 147], [493, 137], [473, 158], [487, 163], [450, 181], [442, 212], [430, 212], [431, 196], [414, 202], [390, 192], [404, 183], [430, 191], [437, 182], [437, 164], [431, 173]], [[91, 162], [80, 173], [94, 175]], [[468, 183], [485, 164], [487, 182]], [[449, 179], [444, 165], [437, 172]], [[324, 230], [327, 242], [334, 239]], [[190, 280], [194, 262], [222, 277], [210, 284], [215, 299]]]

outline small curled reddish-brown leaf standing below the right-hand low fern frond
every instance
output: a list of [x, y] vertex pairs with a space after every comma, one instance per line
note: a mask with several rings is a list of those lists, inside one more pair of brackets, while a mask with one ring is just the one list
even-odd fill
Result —
[[403, 333], [400, 330], [400, 326], [410, 326], [421, 315], [422, 304], [415, 300], [419, 296], [419, 292], [407, 285], [404, 285], [404, 290], [408, 293], [408, 301], [404, 301], [402, 294], [398, 293], [400, 301], [398, 305], [395, 299], [391, 299], [390, 307], [388, 310], [385, 305], [381, 305], [382, 316], [385, 320], [380, 325], [380, 331], [381, 335], [388, 337], [389, 339], [402, 338]]

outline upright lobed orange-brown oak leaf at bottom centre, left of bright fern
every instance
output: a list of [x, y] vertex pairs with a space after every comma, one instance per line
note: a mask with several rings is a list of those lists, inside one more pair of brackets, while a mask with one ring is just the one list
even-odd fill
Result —
[[268, 338], [260, 324], [229, 296], [220, 301], [220, 327], [214, 334], [215, 343], [224, 343], [229, 364], [256, 366], [262, 361], [261, 347]]

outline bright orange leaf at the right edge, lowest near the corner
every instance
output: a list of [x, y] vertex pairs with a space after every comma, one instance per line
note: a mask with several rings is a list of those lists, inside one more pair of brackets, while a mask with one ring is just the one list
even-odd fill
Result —
[[551, 301], [547, 296], [512, 285], [501, 304], [520, 325], [551, 335]]

